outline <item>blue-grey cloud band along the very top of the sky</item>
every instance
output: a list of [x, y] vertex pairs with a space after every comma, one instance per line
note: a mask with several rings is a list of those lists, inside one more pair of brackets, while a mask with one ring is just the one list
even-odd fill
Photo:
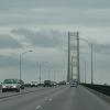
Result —
[[74, 7], [77, 9], [110, 8], [109, 0], [0, 0], [0, 9]]

